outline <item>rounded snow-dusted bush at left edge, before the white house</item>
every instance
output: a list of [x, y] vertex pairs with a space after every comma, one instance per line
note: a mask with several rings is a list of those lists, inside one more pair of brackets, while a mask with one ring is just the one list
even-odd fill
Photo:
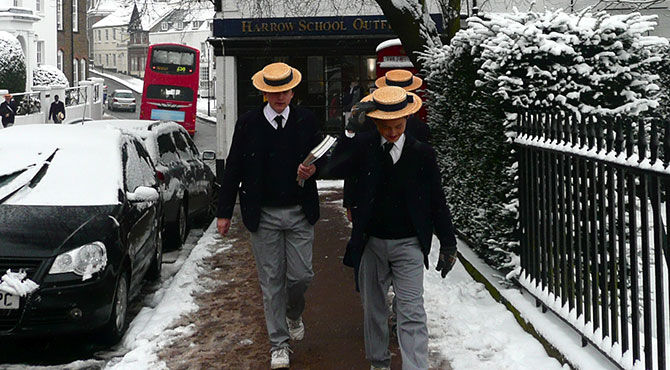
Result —
[[5, 31], [0, 31], [0, 89], [11, 93], [26, 89], [26, 57], [19, 40]]

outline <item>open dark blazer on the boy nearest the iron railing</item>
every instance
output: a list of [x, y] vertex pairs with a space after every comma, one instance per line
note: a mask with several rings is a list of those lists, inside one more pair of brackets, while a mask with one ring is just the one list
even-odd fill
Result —
[[[363, 249], [367, 243], [365, 230], [373, 215], [377, 184], [381, 177], [381, 159], [384, 155], [379, 146], [381, 136], [376, 131], [356, 134], [353, 138], [342, 135], [330, 162], [323, 172], [336, 177], [354, 175], [358, 186], [353, 194], [351, 208], [353, 228], [351, 240], [344, 255], [344, 264], [358, 268]], [[406, 135], [401, 156], [405, 157], [402, 169], [406, 173], [405, 199], [410, 218], [416, 230], [424, 264], [428, 268], [428, 253], [433, 232], [440, 240], [440, 250], [446, 253], [456, 251], [456, 236], [451, 212], [442, 190], [440, 170], [437, 166], [435, 150], [412, 136]], [[402, 163], [402, 162], [398, 162]]]

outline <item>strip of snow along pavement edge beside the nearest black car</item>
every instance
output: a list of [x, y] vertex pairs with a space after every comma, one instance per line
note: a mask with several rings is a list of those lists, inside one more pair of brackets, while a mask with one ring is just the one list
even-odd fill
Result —
[[[107, 365], [112, 369], [148, 369], [164, 368], [158, 360], [157, 352], [168, 346], [174, 339], [188, 335], [190, 326], [173, 328], [177, 320], [189, 312], [198, 309], [194, 294], [205, 289], [206, 278], [202, 261], [216, 253], [231, 247], [221, 243], [213, 222], [198, 244], [187, 255], [179, 272], [163, 282], [163, 286], [154, 293], [150, 307], [144, 307], [130, 323], [121, 346], [128, 350], [122, 359]], [[165, 276], [168, 271], [163, 271]]]

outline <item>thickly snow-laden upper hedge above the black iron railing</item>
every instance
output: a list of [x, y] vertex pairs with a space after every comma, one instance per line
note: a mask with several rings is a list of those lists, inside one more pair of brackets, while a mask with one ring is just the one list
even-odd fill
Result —
[[473, 18], [452, 45], [478, 54], [478, 86], [515, 108], [555, 107], [579, 113], [637, 115], [658, 107], [665, 38], [645, 36], [656, 15], [543, 13]]

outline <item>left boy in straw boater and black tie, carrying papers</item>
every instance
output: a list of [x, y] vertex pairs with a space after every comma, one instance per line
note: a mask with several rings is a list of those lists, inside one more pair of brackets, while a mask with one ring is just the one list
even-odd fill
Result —
[[272, 369], [289, 366], [289, 338], [305, 335], [304, 294], [314, 275], [315, 173], [322, 162], [301, 162], [322, 137], [315, 115], [290, 104], [301, 78], [284, 63], [269, 64], [252, 77], [267, 103], [237, 120], [217, 210], [217, 229], [225, 236], [239, 189], [263, 293]]

